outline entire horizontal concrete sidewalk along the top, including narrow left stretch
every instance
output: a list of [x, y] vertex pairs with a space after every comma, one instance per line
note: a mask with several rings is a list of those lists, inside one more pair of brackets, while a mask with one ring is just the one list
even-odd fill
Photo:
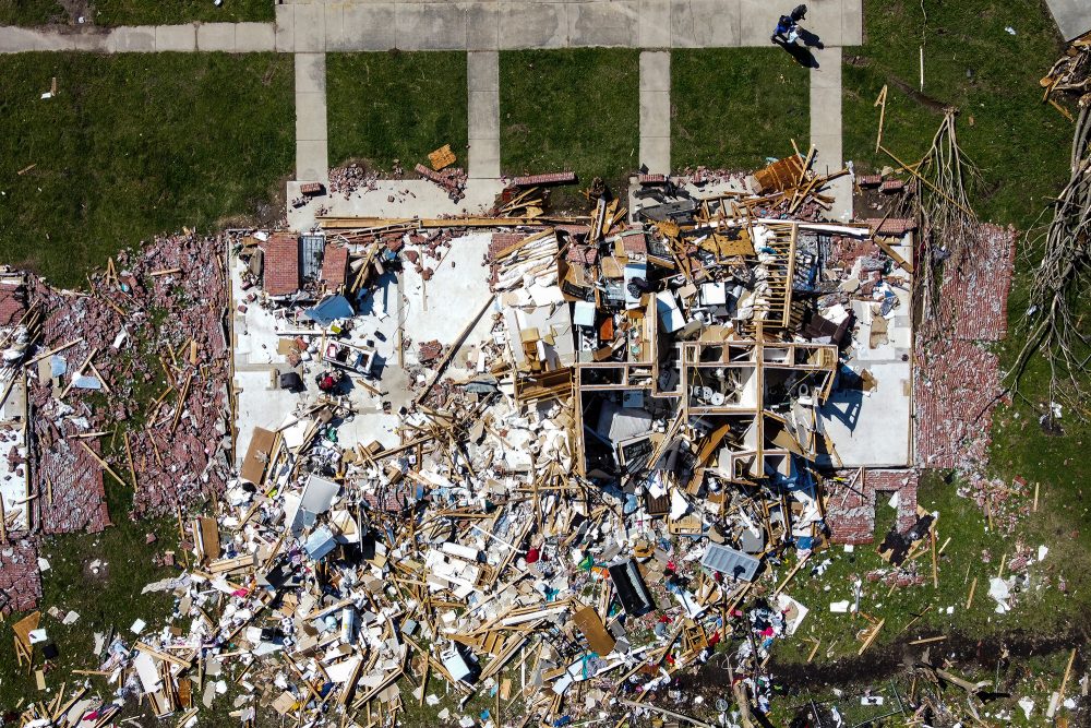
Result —
[[[861, 43], [862, 0], [813, 0], [810, 5], [806, 26], [828, 47]], [[80, 32], [3, 26], [0, 52], [766, 47], [782, 11], [766, 0], [289, 2], [276, 7], [276, 23], [187, 23]]]

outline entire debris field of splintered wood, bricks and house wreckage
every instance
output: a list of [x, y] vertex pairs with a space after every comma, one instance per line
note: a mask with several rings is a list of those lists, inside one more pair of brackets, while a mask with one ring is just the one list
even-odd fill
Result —
[[[417, 172], [457, 200], [442, 152]], [[942, 514], [919, 468], [983, 472], [1012, 265], [1014, 234], [983, 227], [945, 283], [973, 317], [914, 331], [915, 220], [826, 222], [849, 170], [814, 158], [639, 176], [627, 199], [596, 179], [578, 217], [548, 212], [579, 182], [561, 172], [481, 216], [187, 231], [87, 293], [5, 273], [0, 609], [40, 596], [43, 535], [172, 515], [188, 550], [134, 585], [172, 596], [170, 623], [96, 645], [112, 692], [71, 683], [25, 725], [108, 725], [134, 699], [179, 726], [425, 705], [709, 725], [671, 695], [718, 645], [733, 700], [705, 715], [753, 725], [770, 651], [817, 606], [793, 576], [870, 542], [878, 497], [898, 512], [874, 580], [926, 578], [910, 562]], [[347, 168], [329, 192], [372, 183]], [[115, 480], [131, 513], [108, 512]]]

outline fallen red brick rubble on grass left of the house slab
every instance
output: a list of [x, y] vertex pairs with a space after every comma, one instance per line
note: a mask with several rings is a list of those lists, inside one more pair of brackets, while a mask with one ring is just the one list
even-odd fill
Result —
[[[135, 517], [173, 513], [178, 505], [187, 508], [223, 489], [230, 443], [224, 250], [218, 238], [170, 236], [119, 254], [117, 267], [128, 275], [120, 275], [120, 282], [103, 273], [92, 276], [91, 296], [35, 283], [33, 298], [47, 312], [43, 346], [82, 339], [62, 351], [69, 373], [95, 351], [95, 367], [110, 386], [110, 392], [95, 393], [106, 397], [105, 407], [79, 389], [61, 404], [49, 381], [32, 379], [32, 452], [38, 464], [32, 487], [39, 494], [46, 533], [109, 525], [103, 468], [84, 447], [99, 452], [100, 445], [71, 439], [77, 432], [111, 432], [104, 438], [112, 444], [103, 445], [111, 453], [106, 461], [115, 473], [135, 480]], [[122, 330], [127, 336], [119, 341]], [[130, 394], [134, 389], [161, 396], [152, 411], [141, 413], [147, 421], [139, 428], [131, 425], [137, 414]], [[83, 420], [85, 426], [77, 428], [75, 422]], [[132, 470], [123, 437], [112, 435], [127, 422]]]

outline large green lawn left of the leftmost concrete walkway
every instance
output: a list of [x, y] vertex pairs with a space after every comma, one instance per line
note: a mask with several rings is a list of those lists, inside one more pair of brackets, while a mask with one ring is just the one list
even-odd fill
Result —
[[[57, 97], [40, 99], [53, 76]], [[20, 53], [0, 57], [0, 77], [5, 263], [77, 286], [157, 232], [280, 214], [268, 201], [293, 159], [290, 57]]]

